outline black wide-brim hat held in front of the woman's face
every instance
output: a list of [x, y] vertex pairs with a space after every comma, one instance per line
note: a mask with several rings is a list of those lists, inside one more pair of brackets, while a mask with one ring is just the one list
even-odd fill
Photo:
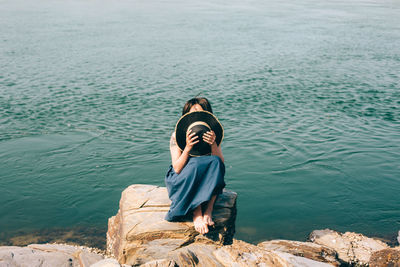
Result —
[[224, 139], [224, 128], [217, 117], [208, 111], [193, 111], [183, 115], [175, 126], [176, 143], [181, 150], [186, 146], [186, 132], [192, 129], [198, 135], [199, 142], [189, 152], [190, 156], [203, 156], [211, 153], [211, 146], [203, 141], [203, 134], [213, 130], [215, 142], [221, 144]]

